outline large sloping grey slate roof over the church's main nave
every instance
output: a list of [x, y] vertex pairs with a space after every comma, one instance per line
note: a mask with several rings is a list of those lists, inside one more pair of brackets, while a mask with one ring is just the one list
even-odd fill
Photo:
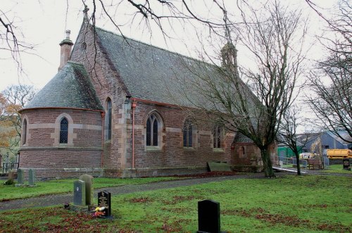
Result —
[[190, 86], [194, 83], [187, 81], [191, 81], [194, 75], [211, 75], [214, 78], [220, 75], [215, 65], [203, 61], [137, 42], [99, 27], [96, 27], [96, 34], [103, 53], [118, 71], [127, 94], [135, 98], [194, 106], [189, 99], [193, 101], [199, 95], [194, 89], [191, 90]]

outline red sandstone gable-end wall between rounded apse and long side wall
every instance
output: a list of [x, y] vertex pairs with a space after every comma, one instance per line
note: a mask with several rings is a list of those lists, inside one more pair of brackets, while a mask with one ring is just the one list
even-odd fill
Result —
[[[82, 27], [70, 59], [84, 64], [103, 107], [106, 108], [106, 99], [110, 98], [112, 101], [112, 138], [108, 141], [104, 140], [103, 163], [106, 168], [118, 169], [125, 166], [126, 141], [122, 136], [123, 130], [116, 128], [115, 125], [119, 124], [120, 119], [125, 118], [125, 113], [121, 110], [126, 94], [116, 78], [118, 77], [117, 71], [111, 69], [111, 65], [99, 46], [94, 46], [96, 40], [91, 30], [86, 33], [86, 28]], [[82, 46], [83, 43], [86, 46]], [[87, 49], [82, 49], [83, 47]]]

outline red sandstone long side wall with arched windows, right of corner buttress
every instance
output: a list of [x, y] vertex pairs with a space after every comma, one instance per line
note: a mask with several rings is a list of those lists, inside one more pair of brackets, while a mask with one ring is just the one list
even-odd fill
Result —
[[[149, 151], [145, 146], [145, 125], [151, 111], [157, 111], [163, 118], [163, 146], [160, 151]], [[234, 134], [227, 135], [223, 143], [222, 151], [213, 150], [211, 137], [212, 125], [210, 122], [198, 125], [196, 137], [198, 144], [194, 148], [183, 147], [182, 128], [188, 114], [180, 108], [168, 108], [163, 106], [138, 103], [135, 113], [135, 168], [174, 168], [204, 166], [211, 160], [227, 161], [231, 163], [230, 146]], [[138, 127], [139, 126], [139, 127]], [[172, 132], [167, 128], [173, 128], [178, 132]], [[127, 131], [132, 134], [132, 130]], [[131, 136], [130, 136], [131, 137]], [[132, 163], [132, 148], [127, 149], [127, 168]]]

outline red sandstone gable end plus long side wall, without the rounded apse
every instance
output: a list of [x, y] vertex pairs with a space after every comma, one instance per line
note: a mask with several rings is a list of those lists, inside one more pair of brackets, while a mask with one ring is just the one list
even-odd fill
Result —
[[[85, 27], [80, 33], [81, 37], [75, 42], [75, 49], [71, 60], [83, 63], [88, 70], [94, 88], [101, 99], [106, 103], [109, 97], [113, 102], [113, 130], [111, 141], [104, 141], [103, 161], [108, 169], [132, 168], [132, 122], [131, 110], [125, 104], [126, 93], [118, 80], [117, 70], [108, 63], [106, 54], [94, 47], [92, 31], [85, 33]], [[83, 38], [84, 35], [84, 38]], [[82, 43], [86, 48], [82, 50]], [[97, 49], [96, 49], [97, 48]], [[95, 61], [93, 60], [95, 58]], [[104, 107], [106, 107], [104, 105]], [[163, 118], [163, 148], [161, 151], [147, 151], [145, 146], [145, 125], [148, 113], [156, 109]], [[221, 160], [231, 163], [230, 146], [234, 135], [225, 139], [223, 151], [213, 151], [213, 140], [210, 137], [212, 125], [200, 125], [198, 145], [194, 149], [184, 149], [182, 144], [182, 131], [167, 132], [166, 129], [182, 129], [187, 113], [179, 108], [168, 108], [138, 103], [135, 116], [135, 167], [161, 168], [161, 167], [189, 167], [204, 166], [206, 161]]]

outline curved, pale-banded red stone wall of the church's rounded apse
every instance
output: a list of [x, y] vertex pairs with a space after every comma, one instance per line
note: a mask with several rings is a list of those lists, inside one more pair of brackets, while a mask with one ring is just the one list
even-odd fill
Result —
[[[100, 112], [34, 109], [22, 112], [27, 120], [26, 141], [20, 149], [20, 168], [36, 170], [37, 177], [71, 177], [101, 170]], [[68, 143], [60, 144], [60, 121], [68, 119]]]

